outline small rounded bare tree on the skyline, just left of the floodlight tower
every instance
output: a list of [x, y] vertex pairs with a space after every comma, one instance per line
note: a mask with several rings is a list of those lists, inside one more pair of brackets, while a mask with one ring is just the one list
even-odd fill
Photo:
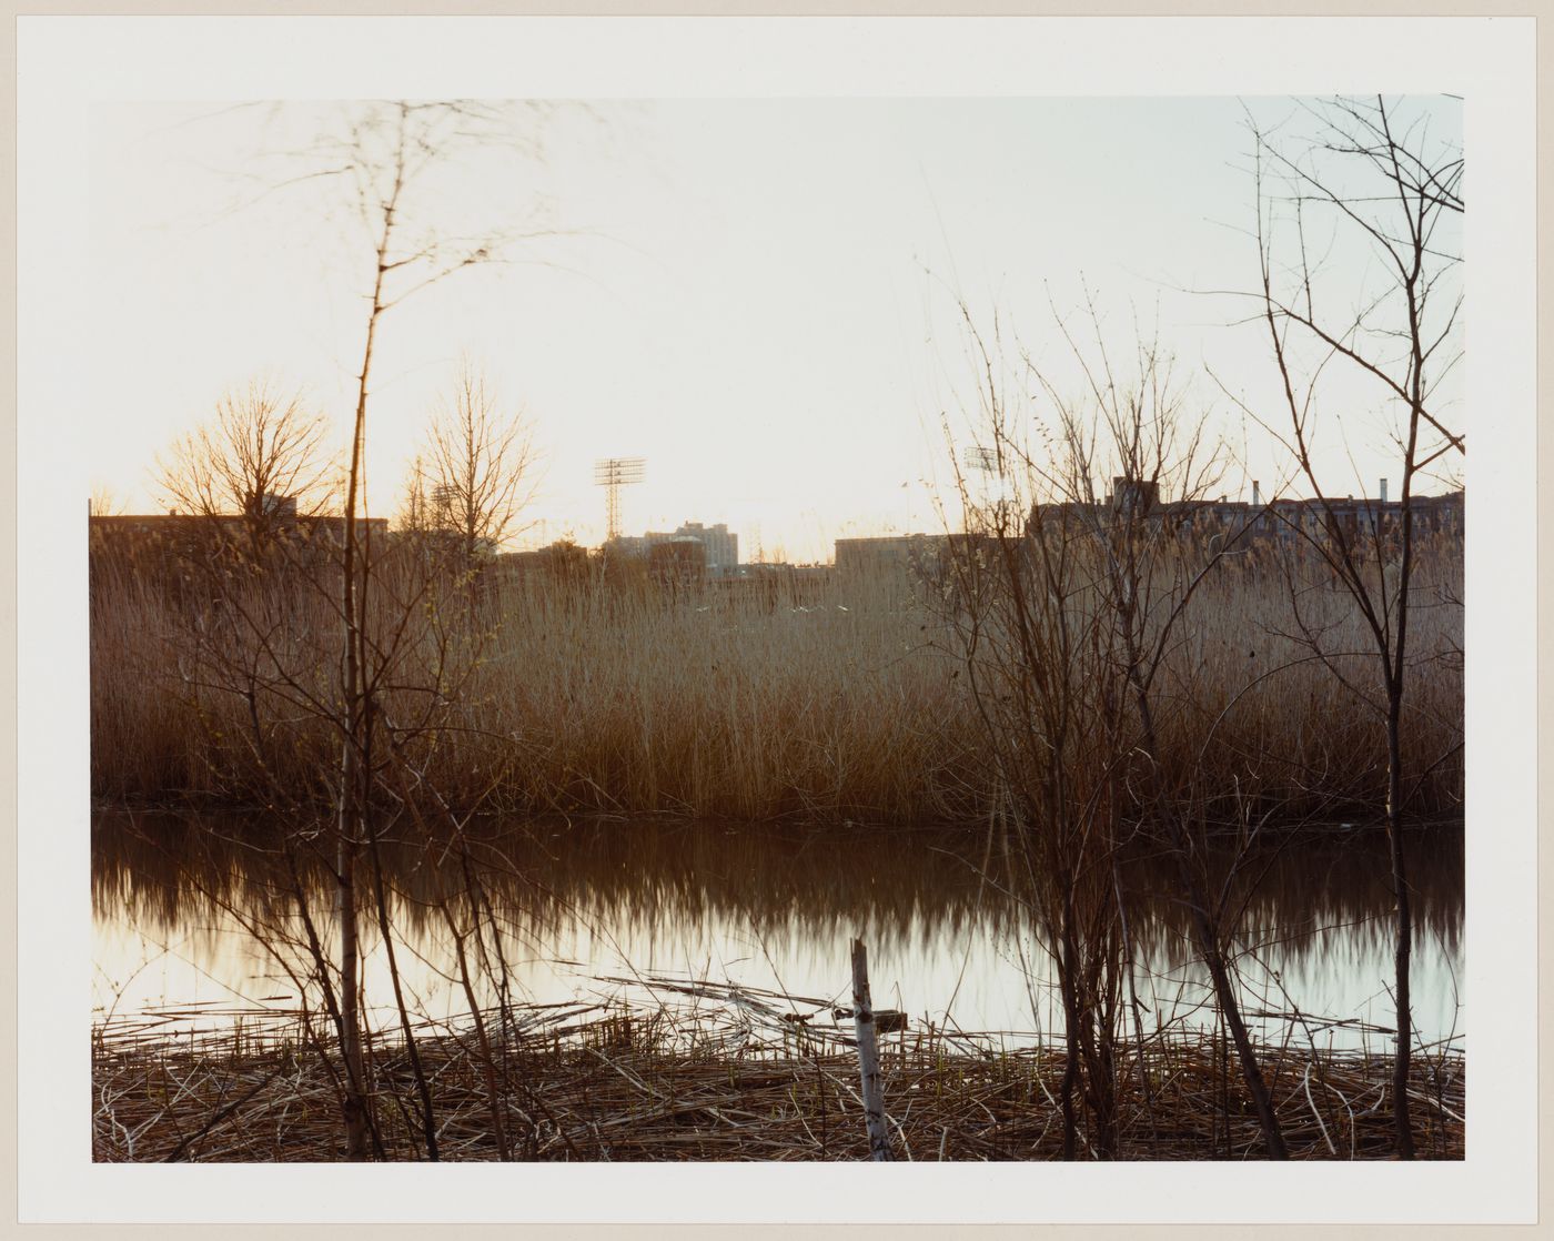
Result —
[[503, 415], [485, 376], [463, 362], [452, 401], [427, 432], [412, 495], [426, 525], [458, 541], [465, 568], [517, 533], [517, 514], [533, 499], [533, 466], [524, 418]]

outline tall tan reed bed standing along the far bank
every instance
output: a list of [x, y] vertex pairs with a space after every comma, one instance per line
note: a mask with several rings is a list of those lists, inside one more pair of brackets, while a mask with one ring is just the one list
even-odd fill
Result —
[[[1459, 545], [1422, 548], [1405, 764], [1427, 815], [1461, 814], [1461, 576]], [[817, 572], [761, 590], [662, 590], [491, 575], [471, 603], [457, 584], [384, 581], [375, 623], [410, 624], [382, 700], [432, 719], [415, 761], [455, 805], [971, 825], [996, 801], [945, 603], [920, 584]], [[1341, 590], [1296, 589], [1343, 676], [1302, 646], [1288, 581], [1249, 558], [1204, 584], [1167, 657], [1166, 746], [1206, 801], [1253, 789], [1290, 819], [1347, 819], [1385, 791], [1385, 738], [1360, 699], [1375, 660]], [[331, 589], [269, 575], [224, 590], [213, 606], [93, 561], [98, 798], [328, 801]]]

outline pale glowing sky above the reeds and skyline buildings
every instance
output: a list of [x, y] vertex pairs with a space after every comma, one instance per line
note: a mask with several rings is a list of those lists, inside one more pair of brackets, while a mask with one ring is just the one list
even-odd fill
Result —
[[[1134, 318], [1159, 328], [1248, 461], [1228, 481], [1246, 492], [1274, 477], [1271, 449], [1206, 368], [1277, 413], [1274, 373], [1260, 331], [1229, 326], [1245, 306], [1204, 292], [1257, 273], [1246, 107], [1265, 123], [1294, 110], [1234, 96], [563, 109], [539, 130], [544, 160], [493, 152], [446, 182], [454, 219], [538, 217], [566, 236], [525, 244], [522, 264], [462, 272], [384, 322], [371, 506], [396, 506], [468, 354], [541, 452], [527, 544], [603, 537], [592, 463], [612, 455], [646, 458], [645, 483], [622, 495], [628, 533], [727, 522], [746, 559], [827, 559], [839, 536], [942, 528], [934, 483], [948, 481], [973, 399], [956, 297], [984, 331], [996, 311], [1077, 391], [1054, 309], [1092, 335], [1086, 287], [1108, 348], [1131, 348]], [[1459, 143], [1459, 107], [1428, 107], [1433, 135]], [[287, 172], [255, 152], [342, 109], [292, 104], [280, 132], [266, 107], [95, 112], [101, 382], [84, 444], [93, 486], [131, 511], [157, 511], [155, 454], [255, 374], [300, 388], [343, 443], [368, 244], [345, 186], [228, 210], [253, 179]], [[1346, 297], [1364, 286], [1363, 255], [1332, 262]], [[1333, 457], [1330, 489], [1374, 492], [1380, 399], [1343, 376], [1332, 393], [1347, 398], [1354, 468]]]

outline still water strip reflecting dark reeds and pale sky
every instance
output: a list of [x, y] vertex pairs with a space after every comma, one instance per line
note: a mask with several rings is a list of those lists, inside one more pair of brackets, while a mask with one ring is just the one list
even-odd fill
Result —
[[[95, 1020], [137, 1017], [174, 1033], [298, 1006], [309, 975], [297, 893], [331, 943], [328, 850], [323, 837], [315, 853], [300, 850], [294, 873], [275, 848], [278, 826], [96, 815]], [[500, 927], [514, 1000], [645, 999], [654, 994], [651, 977], [668, 977], [845, 1003], [848, 947], [859, 935], [880, 1008], [1009, 1042], [1061, 1030], [1038, 919], [996, 840], [643, 820], [483, 825], [476, 837], [469, 870], [409, 840], [388, 840], [382, 853], [407, 1000], [430, 1020], [469, 1010], [438, 898], [462, 898], [477, 874]], [[1462, 834], [1433, 829], [1409, 843], [1416, 1038], [1459, 1039]], [[1392, 901], [1385, 842], [1335, 833], [1248, 870], [1259, 879], [1240, 893], [1243, 1003], [1251, 1014], [1280, 1014], [1253, 1025], [1265, 1038], [1386, 1050]], [[1141, 895], [1131, 930], [1145, 1031], [1212, 1025], [1206, 975], [1162, 874], [1139, 862], [1127, 884]], [[466, 946], [474, 954], [474, 940]], [[376, 1020], [392, 1025], [387, 955], [375, 929], [364, 927], [364, 951], [367, 1002], [379, 1010]], [[480, 983], [476, 999], [494, 1002], [494, 985]], [[1288, 1016], [1294, 1011], [1301, 1019]]]

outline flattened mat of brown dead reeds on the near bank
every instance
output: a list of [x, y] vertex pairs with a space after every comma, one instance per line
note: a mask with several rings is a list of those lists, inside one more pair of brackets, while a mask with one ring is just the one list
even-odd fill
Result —
[[[769, 1005], [761, 1005], [769, 1008]], [[468, 1030], [416, 1038], [443, 1160], [867, 1159], [845, 1028], [772, 1038], [765, 1022], [637, 1014], [603, 1005], [486, 1014], [490, 1059]], [[502, 1027], [507, 1033], [502, 1034]], [[766, 1027], [763, 1031], [761, 1027]], [[292, 1019], [294, 1034], [303, 1025]], [[1061, 1154], [1052, 1048], [911, 1028], [881, 1039], [897, 1159], [1027, 1160]], [[92, 1149], [99, 1162], [312, 1162], [342, 1157], [337, 1059], [239, 1024], [166, 1039], [93, 1034]], [[376, 1146], [426, 1159], [402, 1044], [373, 1048]], [[1388, 1159], [1391, 1061], [1267, 1048], [1296, 1159]], [[1464, 1156], [1461, 1056], [1414, 1058], [1419, 1152]], [[1125, 1159], [1259, 1159], [1234, 1058], [1212, 1036], [1156, 1038], [1119, 1062]], [[493, 1087], [497, 1106], [493, 1107]], [[1145, 1089], [1147, 1087], [1147, 1089]], [[502, 1135], [497, 1135], [497, 1121]]]

